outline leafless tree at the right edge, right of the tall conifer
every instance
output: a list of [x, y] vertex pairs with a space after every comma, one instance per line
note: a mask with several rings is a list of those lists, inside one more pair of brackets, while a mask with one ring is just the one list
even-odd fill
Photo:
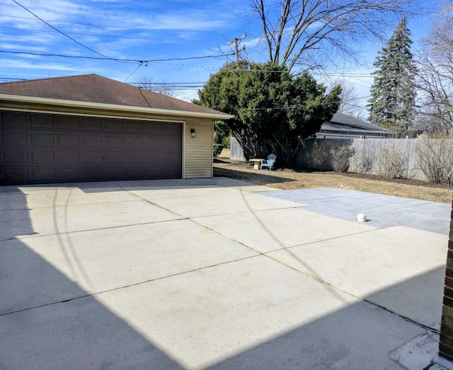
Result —
[[428, 132], [453, 132], [453, 6], [445, 5], [418, 56], [418, 124]]

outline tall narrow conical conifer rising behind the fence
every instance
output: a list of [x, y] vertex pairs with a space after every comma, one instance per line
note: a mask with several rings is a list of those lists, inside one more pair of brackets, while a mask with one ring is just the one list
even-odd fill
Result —
[[406, 18], [396, 28], [386, 47], [378, 52], [369, 99], [369, 120], [393, 129], [399, 137], [410, 134], [415, 105], [416, 67], [411, 53], [411, 32]]

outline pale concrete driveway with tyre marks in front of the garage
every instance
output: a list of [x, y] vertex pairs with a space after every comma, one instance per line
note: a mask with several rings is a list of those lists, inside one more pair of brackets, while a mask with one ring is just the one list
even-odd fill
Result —
[[447, 235], [358, 223], [310, 191], [1, 187], [0, 369], [429, 366]]

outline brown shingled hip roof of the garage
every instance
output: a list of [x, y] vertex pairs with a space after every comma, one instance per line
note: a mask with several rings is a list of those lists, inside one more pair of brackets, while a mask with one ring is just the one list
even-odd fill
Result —
[[203, 116], [227, 115], [200, 105], [144, 90], [97, 74], [55, 77], [0, 83], [0, 96], [21, 96], [40, 100], [95, 103], [171, 112], [193, 112]]

